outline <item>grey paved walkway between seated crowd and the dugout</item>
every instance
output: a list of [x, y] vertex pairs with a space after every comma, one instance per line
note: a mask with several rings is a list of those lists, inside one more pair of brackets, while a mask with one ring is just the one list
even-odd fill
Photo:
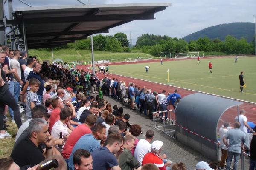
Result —
[[[186, 145], [176, 141], [172, 137], [164, 134], [163, 132], [156, 130], [153, 125], [153, 121], [149, 119], [148, 117], [145, 117], [144, 114], [140, 114], [140, 111], [132, 111], [129, 109], [129, 107], [125, 107], [125, 105], [122, 105], [119, 101], [116, 101], [114, 99], [111, 99], [110, 97], [104, 96], [105, 100], [108, 100], [108, 102], [111, 103], [111, 106], [118, 105], [118, 107], [124, 108], [124, 113], [130, 114], [130, 124], [139, 124], [142, 126], [142, 132], [143, 134], [139, 136], [138, 138], [145, 138], [145, 133], [148, 129], [151, 129], [154, 131], [154, 140], [161, 140], [163, 141], [163, 150], [161, 152], [165, 152], [166, 155], [169, 157], [169, 159], [175, 163], [175, 162], [183, 162], [185, 163], [187, 170], [194, 170], [195, 165], [199, 161], [206, 161], [210, 162], [211, 160], [203, 156], [201, 153], [193, 150], [190, 147], [187, 147]], [[249, 163], [248, 161], [245, 163], [245, 169], [249, 169]], [[239, 162], [239, 170], [241, 169], [241, 162]]]

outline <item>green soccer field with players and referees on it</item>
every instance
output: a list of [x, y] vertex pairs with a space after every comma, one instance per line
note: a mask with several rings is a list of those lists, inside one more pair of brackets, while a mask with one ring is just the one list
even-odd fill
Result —
[[[212, 62], [212, 74], [208, 63]], [[145, 72], [145, 66], [150, 66]], [[169, 68], [169, 82], [167, 69]], [[246, 88], [240, 92], [239, 74], [244, 71]], [[256, 57], [239, 57], [235, 63], [234, 57], [176, 60], [159, 62], [111, 65], [110, 72], [122, 76], [134, 77], [152, 82], [203, 91], [211, 94], [227, 96], [250, 102], [256, 102]]]

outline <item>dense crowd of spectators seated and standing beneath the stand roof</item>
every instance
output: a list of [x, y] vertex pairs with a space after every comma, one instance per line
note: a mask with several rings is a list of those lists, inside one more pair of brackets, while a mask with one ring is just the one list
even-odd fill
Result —
[[[163, 142], [154, 140], [154, 131], [147, 130], [146, 139], [139, 140], [142, 127], [130, 125], [130, 115], [111, 105], [105, 96], [128, 103], [132, 110], [152, 119], [154, 111], [166, 110], [169, 104], [176, 109], [181, 99], [177, 89], [166, 95], [165, 90], [157, 93], [134, 83], [126, 85], [107, 75], [99, 79], [96, 74], [60, 63], [40, 64], [36, 57], [27, 58], [26, 51], [15, 50], [13, 54], [11, 57], [6, 46], [0, 49], [0, 139], [10, 137], [4, 123], [6, 105], [19, 130], [10, 158], [0, 159], [1, 167], [36, 168], [56, 159], [61, 168], [69, 170], [171, 169], [161, 152]], [[26, 113], [23, 124], [21, 112]], [[167, 118], [167, 113], [163, 114], [161, 122]], [[180, 162], [172, 169], [186, 167]], [[199, 162], [196, 169], [211, 168]]]

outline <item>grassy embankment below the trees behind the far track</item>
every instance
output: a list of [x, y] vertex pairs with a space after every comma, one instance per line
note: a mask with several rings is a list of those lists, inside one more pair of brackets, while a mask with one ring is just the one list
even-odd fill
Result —
[[[38, 56], [41, 60], [49, 59], [52, 61], [52, 51], [47, 50], [29, 50], [29, 55]], [[75, 50], [75, 49], [61, 49], [53, 51], [54, 59], [61, 59], [64, 62], [73, 61], [91, 61], [91, 51], [89, 50]], [[137, 57], [153, 57], [150, 54], [145, 54], [139, 51], [132, 51], [131, 53], [112, 53], [110, 51], [94, 51], [94, 60], [111, 60], [111, 59], [126, 59]]]

